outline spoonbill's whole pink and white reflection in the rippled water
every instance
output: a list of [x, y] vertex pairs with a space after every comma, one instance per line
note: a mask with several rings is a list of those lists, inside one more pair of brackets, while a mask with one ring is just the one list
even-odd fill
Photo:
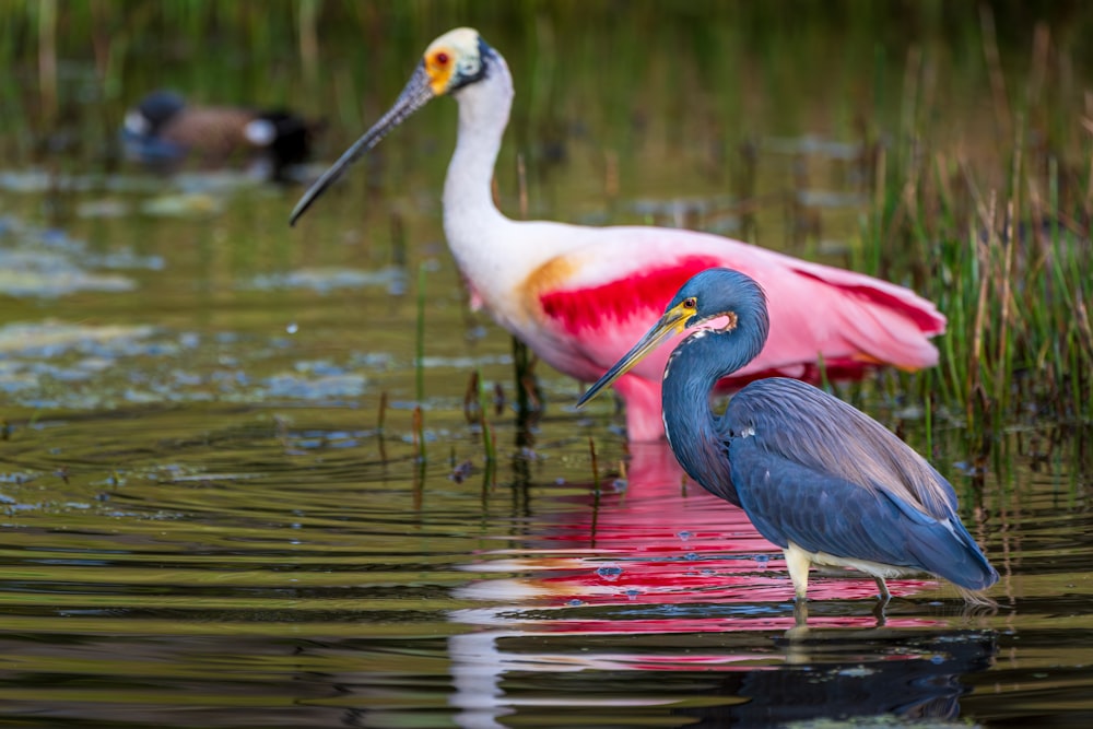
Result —
[[[809, 662], [810, 646], [823, 633], [868, 635], [947, 624], [943, 619], [879, 620], [872, 612], [873, 580], [841, 573], [837, 578], [813, 575], [812, 604], [860, 604], [842, 605], [836, 614], [825, 610], [799, 625], [780, 550], [739, 508], [695, 484], [682, 493], [683, 474], [667, 446], [635, 448], [625, 491], [602, 495], [598, 506], [589, 494], [580, 497], [579, 509], [539, 512], [540, 525], [553, 518], [528, 536], [524, 549], [483, 552], [465, 566], [483, 578], [455, 592], [482, 607], [450, 613], [453, 622], [474, 626], [448, 642], [455, 687], [449, 703], [461, 709], [459, 726], [504, 727], [506, 716], [543, 701], [506, 694], [502, 682], [512, 672], [764, 672]], [[486, 577], [491, 573], [497, 576]], [[932, 586], [919, 580], [890, 585], [893, 595], [903, 596]], [[679, 649], [656, 639], [644, 648], [625, 638], [572, 639], [717, 633], [724, 637], [685, 642]], [[772, 638], [779, 634], [789, 638], [788, 646], [772, 649]], [[893, 654], [880, 660], [920, 658]], [[584, 701], [587, 706], [634, 707], [671, 705], [677, 698], [604, 695]]]

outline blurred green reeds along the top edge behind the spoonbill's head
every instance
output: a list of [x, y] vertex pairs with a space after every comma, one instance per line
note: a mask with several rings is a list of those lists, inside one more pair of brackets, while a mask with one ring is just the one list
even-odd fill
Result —
[[[338, 150], [395, 97], [424, 45], [457, 25], [478, 27], [508, 59], [515, 138], [532, 160], [574, 124], [607, 122], [604, 141], [624, 156], [650, 118], [715, 148], [802, 127], [894, 131], [914, 91], [907, 77], [920, 71], [922, 114], [943, 117], [920, 121], [966, 144], [1008, 142], [978, 129], [1049, 107], [1037, 131], [1062, 149], [1084, 141], [1067, 115], [1084, 111], [1093, 60], [1082, 2], [4, 0], [0, 23], [10, 165], [61, 152], [110, 164], [125, 107], [156, 87], [326, 118]], [[1053, 83], [1031, 89], [1037, 28]]]

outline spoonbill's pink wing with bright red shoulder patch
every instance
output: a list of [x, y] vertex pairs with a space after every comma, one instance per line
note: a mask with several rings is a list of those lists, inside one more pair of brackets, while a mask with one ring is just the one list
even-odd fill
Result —
[[[808, 378], [821, 356], [828, 368], [851, 372], [875, 364], [915, 369], [937, 363], [929, 338], [944, 331], [945, 319], [903, 286], [692, 231], [598, 232], [602, 235], [593, 245], [551, 259], [525, 282], [526, 295], [538, 306], [538, 333], [561, 350], [560, 358], [573, 361], [559, 367], [563, 372], [599, 377], [687, 279], [718, 266], [755, 279], [771, 309], [766, 346], [736, 378], [774, 373]], [[671, 349], [666, 344], [634, 374], [659, 383]]]

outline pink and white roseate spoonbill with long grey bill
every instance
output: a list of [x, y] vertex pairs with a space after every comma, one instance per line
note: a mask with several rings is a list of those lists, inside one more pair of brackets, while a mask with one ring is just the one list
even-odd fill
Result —
[[[603, 374], [645, 321], [694, 273], [730, 266], [775, 294], [776, 336], [740, 372], [739, 387], [766, 374], [815, 379], [877, 364], [932, 366], [929, 342], [944, 330], [937, 308], [907, 289], [694, 231], [588, 227], [505, 217], [491, 191], [508, 124], [513, 80], [505, 59], [471, 28], [428, 46], [395, 105], [301, 198], [296, 220], [344, 169], [435, 96], [459, 103], [459, 137], [444, 184], [444, 231], [474, 306], [526, 342], [555, 369], [590, 383]], [[663, 437], [660, 375], [667, 352], [615, 384], [632, 440]]]

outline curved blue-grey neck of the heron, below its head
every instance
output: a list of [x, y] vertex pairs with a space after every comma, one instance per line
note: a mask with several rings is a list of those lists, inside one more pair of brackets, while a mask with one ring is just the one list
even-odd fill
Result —
[[675, 348], [665, 368], [662, 403], [665, 433], [683, 470], [706, 491], [739, 506], [710, 391], [759, 355], [767, 319], [765, 311], [751, 310], [738, 310], [737, 317], [733, 330], [700, 330]]

